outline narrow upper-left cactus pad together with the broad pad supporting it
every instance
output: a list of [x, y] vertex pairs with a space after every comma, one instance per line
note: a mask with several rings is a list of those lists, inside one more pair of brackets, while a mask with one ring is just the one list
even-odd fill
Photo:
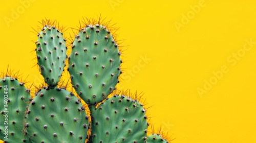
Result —
[[41, 74], [49, 86], [39, 89], [31, 101], [26, 131], [32, 142], [84, 142], [89, 127], [85, 108], [73, 92], [56, 87], [67, 58], [66, 40], [54, 22], [46, 22], [38, 34], [36, 54]]

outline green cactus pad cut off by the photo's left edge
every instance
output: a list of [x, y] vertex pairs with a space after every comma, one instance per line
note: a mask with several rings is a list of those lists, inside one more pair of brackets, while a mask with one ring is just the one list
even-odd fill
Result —
[[[30, 90], [12, 77], [0, 79], [0, 139], [7, 142], [29, 142], [24, 125]], [[7, 133], [7, 134], [5, 134]]]

